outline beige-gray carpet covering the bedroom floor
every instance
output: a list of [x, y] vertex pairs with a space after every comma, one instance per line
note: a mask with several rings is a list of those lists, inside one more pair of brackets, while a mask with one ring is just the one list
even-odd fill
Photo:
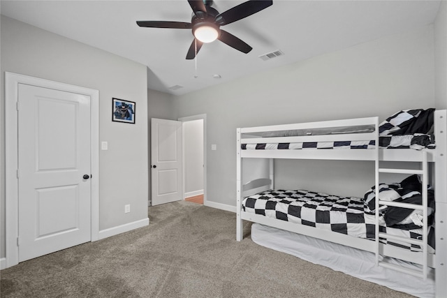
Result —
[[[0, 271], [1, 297], [409, 297], [254, 244], [235, 214], [149, 207], [150, 225]], [[329, 252], [328, 252], [329, 253]]]

